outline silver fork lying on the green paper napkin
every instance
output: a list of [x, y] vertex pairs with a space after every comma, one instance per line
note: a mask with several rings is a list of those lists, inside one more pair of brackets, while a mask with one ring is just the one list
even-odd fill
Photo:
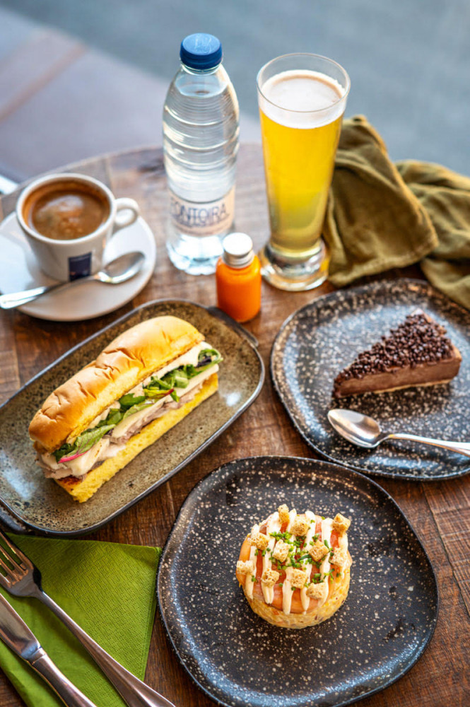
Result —
[[[88, 633], [66, 614], [59, 604], [49, 597], [41, 586], [41, 573], [23, 551], [16, 547], [6, 535], [0, 531], [0, 539], [4, 541], [11, 552], [0, 545], [0, 585], [16, 597], [34, 597], [51, 609], [66, 625], [78, 641], [85, 646], [88, 653], [105, 673], [107, 679], [114, 685], [129, 707], [175, 707], [169, 700], [155, 692], [139, 680], [129, 670], [126, 670], [117, 660], [106, 653]], [[13, 556], [12, 556], [13, 554]]]

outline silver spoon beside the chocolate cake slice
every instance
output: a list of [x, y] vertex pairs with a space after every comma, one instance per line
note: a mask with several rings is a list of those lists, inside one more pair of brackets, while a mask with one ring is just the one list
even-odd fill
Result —
[[458, 454], [464, 454], [470, 457], [470, 444], [465, 442], [450, 442], [449, 440], [435, 440], [430, 437], [420, 437], [418, 435], [409, 435], [405, 432], [387, 433], [382, 432], [380, 424], [367, 415], [363, 415], [355, 410], [344, 410], [336, 408], [330, 410], [328, 419], [332, 427], [341, 437], [344, 437], [348, 442], [373, 449], [378, 447], [385, 440], [409, 440], [410, 442], [421, 442], [423, 444], [433, 445], [433, 447], [442, 447], [449, 449]]

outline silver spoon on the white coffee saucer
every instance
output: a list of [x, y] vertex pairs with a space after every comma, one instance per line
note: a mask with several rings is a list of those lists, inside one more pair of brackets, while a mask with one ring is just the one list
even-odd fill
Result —
[[134, 277], [134, 275], [136, 275], [141, 269], [144, 260], [145, 255], [137, 250], [134, 250], [131, 253], [124, 253], [124, 255], [119, 255], [118, 258], [114, 258], [114, 260], [105, 265], [95, 275], [80, 277], [76, 280], [71, 280], [70, 282], [59, 282], [56, 285], [35, 287], [32, 290], [23, 290], [23, 292], [11, 292], [8, 295], [0, 295], [0, 307], [2, 309], [13, 309], [15, 307], [20, 307], [21, 305], [24, 305], [31, 300], [35, 300], [47, 292], [53, 292], [55, 290], [65, 289], [67, 287], [74, 287], [77, 284], [88, 282], [90, 280], [104, 282], [107, 285], [119, 285], [122, 282], [130, 280], [131, 277]]

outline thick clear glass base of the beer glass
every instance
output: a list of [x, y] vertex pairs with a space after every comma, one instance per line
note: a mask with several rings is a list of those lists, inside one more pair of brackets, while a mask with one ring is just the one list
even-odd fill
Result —
[[329, 258], [323, 241], [319, 251], [302, 262], [293, 262], [274, 254], [269, 243], [266, 243], [259, 252], [259, 260], [264, 279], [280, 290], [312, 290], [328, 277]]

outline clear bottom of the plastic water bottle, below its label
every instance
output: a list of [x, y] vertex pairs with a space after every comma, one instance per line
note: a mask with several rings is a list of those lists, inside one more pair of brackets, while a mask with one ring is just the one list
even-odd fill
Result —
[[189, 275], [211, 275], [222, 255], [222, 238], [218, 235], [194, 236], [175, 233], [168, 237], [168, 257], [178, 270]]

